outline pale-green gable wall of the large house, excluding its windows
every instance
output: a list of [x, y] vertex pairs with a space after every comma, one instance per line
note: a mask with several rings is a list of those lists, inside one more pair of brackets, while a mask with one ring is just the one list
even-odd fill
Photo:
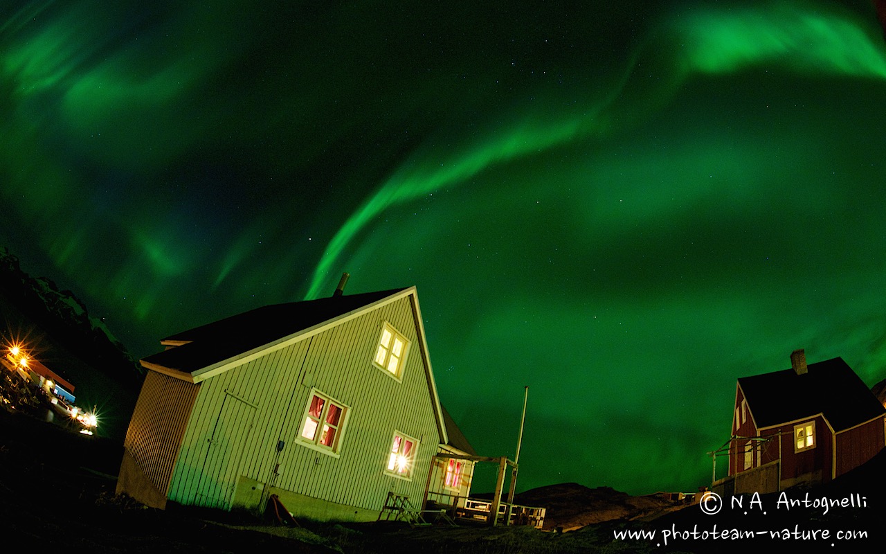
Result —
[[[204, 381], [169, 499], [229, 508], [244, 475], [369, 510], [389, 490], [420, 503], [441, 438], [414, 313], [404, 297]], [[372, 363], [385, 321], [409, 340], [402, 382]], [[338, 456], [299, 440], [312, 387], [348, 408]], [[394, 430], [420, 441], [411, 480], [384, 473]]]

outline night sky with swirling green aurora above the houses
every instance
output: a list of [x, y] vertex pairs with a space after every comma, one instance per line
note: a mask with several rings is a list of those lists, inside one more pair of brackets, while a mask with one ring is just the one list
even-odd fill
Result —
[[0, 245], [136, 358], [416, 285], [481, 454], [528, 385], [517, 488], [631, 493], [709, 484], [795, 348], [886, 378], [870, 2], [297, 4], [0, 7]]

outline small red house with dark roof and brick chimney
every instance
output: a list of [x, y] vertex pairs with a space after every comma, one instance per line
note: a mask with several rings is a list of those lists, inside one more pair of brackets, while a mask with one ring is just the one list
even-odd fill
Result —
[[834, 358], [738, 379], [727, 494], [773, 492], [835, 479], [886, 445], [886, 409], [864, 382]]

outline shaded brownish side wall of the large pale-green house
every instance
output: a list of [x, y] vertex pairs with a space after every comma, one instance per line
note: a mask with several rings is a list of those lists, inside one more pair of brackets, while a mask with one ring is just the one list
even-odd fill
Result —
[[199, 385], [148, 371], [125, 448], [159, 492], [167, 492]]

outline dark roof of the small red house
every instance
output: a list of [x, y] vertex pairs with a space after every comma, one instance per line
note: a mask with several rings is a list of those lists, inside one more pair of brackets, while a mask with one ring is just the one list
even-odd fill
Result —
[[738, 379], [758, 429], [822, 414], [835, 432], [886, 414], [843, 358]]

